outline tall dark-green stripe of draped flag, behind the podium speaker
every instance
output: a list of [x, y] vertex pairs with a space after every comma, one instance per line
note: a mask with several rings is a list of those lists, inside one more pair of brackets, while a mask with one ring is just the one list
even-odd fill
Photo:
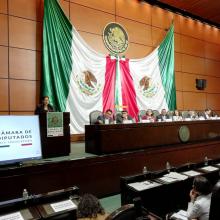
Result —
[[65, 111], [72, 71], [72, 25], [57, 0], [44, 0], [42, 95]]

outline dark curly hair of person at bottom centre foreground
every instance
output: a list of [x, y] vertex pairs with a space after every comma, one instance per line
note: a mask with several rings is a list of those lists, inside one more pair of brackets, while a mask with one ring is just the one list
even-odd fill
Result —
[[105, 211], [101, 206], [99, 200], [92, 194], [84, 194], [79, 199], [77, 217], [96, 218], [98, 214], [105, 214]]

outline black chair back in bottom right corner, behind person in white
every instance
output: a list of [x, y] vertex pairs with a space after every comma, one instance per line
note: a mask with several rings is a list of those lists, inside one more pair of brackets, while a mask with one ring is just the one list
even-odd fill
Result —
[[219, 204], [220, 204], [220, 180], [215, 184], [212, 191], [209, 220], [220, 219]]

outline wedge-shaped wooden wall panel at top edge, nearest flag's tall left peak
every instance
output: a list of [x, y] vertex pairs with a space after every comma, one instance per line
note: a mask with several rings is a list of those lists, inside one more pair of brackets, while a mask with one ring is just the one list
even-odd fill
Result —
[[115, 13], [115, 0], [70, 0], [73, 3], [84, 5], [97, 10], [105, 11], [111, 14]]

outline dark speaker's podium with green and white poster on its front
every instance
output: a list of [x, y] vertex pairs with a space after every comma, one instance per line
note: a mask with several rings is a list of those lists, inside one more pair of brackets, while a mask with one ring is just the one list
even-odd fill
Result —
[[[49, 116], [52, 117], [49, 117]], [[61, 116], [61, 117], [60, 117]], [[68, 156], [70, 154], [70, 113], [69, 112], [51, 112], [39, 114], [40, 132], [41, 132], [41, 145], [43, 158]], [[50, 130], [48, 124], [50, 120], [53, 123], [62, 120], [62, 126], [59, 129], [61, 134]], [[56, 127], [56, 126], [55, 126]], [[52, 135], [51, 135], [52, 133]], [[55, 135], [53, 135], [53, 133]]]

